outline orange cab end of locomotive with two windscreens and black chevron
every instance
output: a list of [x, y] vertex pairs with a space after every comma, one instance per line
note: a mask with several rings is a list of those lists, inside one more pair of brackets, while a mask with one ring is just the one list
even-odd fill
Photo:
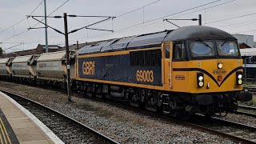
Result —
[[237, 101], [252, 98], [240, 92], [242, 58], [237, 39], [222, 30], [207, 26], [174, 30], [162, 44], [162, 55], [166, 90], [202, 113], [232, 111]]

